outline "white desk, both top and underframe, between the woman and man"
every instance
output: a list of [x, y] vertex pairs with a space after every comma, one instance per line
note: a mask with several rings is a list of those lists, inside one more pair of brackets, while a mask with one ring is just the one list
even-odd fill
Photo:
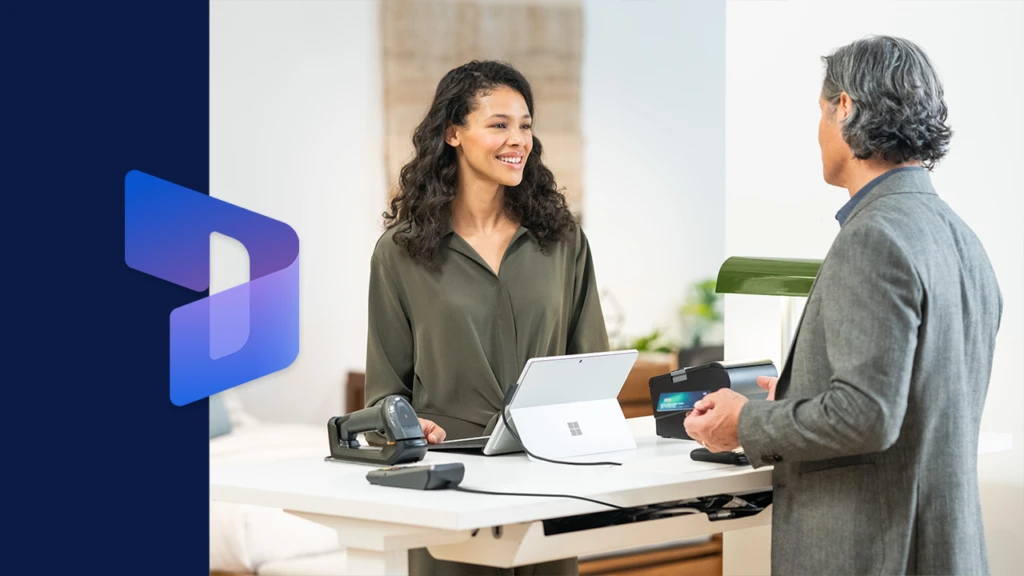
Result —
[[[633, 418], [636, 451], [591, 461], [622, 466], [568, 466], [523, 454], [483, 457], [428, 452], [422, 462], [462, 461], [462, 485], [502, 492], [587, 496], [622, 506], [771, 489], [771, 468], [694, 462], [696, 443], [657, 438], [651, 417]], [[328, 454], [327, 429], [324, 455]], [[581, 458], [585, 460], [585, 458]], [[406, 574], [408, 550], [428, 547], [442, 560], [512, 567], [673, 542], [764, 526], [771, 508], [749, 518], [711, 522], [706, 515], [545, 536], [541, 521], [611, 508], [570, 498], [493, 496], [373, 486], [378, 466], [323, 458], [242, 463], [211, 472], [210, 498], [283, 508], [334, 528], [351, 574]]]

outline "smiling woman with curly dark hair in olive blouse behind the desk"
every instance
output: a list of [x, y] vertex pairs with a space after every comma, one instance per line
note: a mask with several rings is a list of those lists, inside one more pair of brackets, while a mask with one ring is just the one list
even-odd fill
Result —
[[[410, 399], [428, 442], [489, 434], [526, 361], [608, 349], [587, 237], [513, 68], [441, 79], [371, 260], [367, 406]], [[577, 561], [515, 574], [575, 574]], [[411, 574], [512, 574], [410, 551]]]

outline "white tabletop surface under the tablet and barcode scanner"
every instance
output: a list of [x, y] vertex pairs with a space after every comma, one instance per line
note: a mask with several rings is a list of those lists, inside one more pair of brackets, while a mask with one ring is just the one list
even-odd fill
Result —
[[[695, 462], [691, 441], [658, 438], [650, 416], [632, 418], [636, 450], [590, 457], [622, 466], [570, 466], [530, 461], [524, 454], [475, 456], [428, 452], [417, 464], [461, 461], [462, 486], [489, 491], [573, 494], [623, 506], [771, 488], [770, 466], [754, 469]], [[1009, 450], [1010, 435], [982, 434], [980, 453]], [[494, 496], [371, 485], [376, 465], [324, 461], [327, 455], [221, 465], [210, 472], [210, 498], [299, 512], [468, 530], [610, 508], [570, 498]], [[581, 458], [582, 459], [582, 458]]]

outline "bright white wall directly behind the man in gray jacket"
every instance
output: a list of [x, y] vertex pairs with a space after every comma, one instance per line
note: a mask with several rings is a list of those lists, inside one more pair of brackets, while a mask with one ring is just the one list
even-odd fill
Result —
[[[946, 89], [951, 152], [940, 196], [978, 233], [1005, 298], [983, 429], [1012, 433], [1012, 453], [980, 461], [993, 574], [1024, 564], [1024, 3], [730, 1], [727, 6], [728, 256], [824, 257], [845, 190], [821, 179], [819, 56], [868, 34], [918, 42]], [[726, 355], [780, 359], [776, 298], [726, 298]], [[727, 540], [728, 545], [728, 540]], [[732, 562], [733, 564], [730, 564]], [[744, 572], [727, 557], [727, 573]]]

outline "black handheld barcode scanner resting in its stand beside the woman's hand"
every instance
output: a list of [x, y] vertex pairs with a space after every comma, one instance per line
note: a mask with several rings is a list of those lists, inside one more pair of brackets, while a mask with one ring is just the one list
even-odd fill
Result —
[[[331, 455], [325, 460], [364, 464], [418, 462], [427, 453], [427, 439], [409, 401], [390, 396], [379, 406], [335, 416], [327, 423]], [[387, 439], [381, 447], [359, 444], [360, 433], [378, 433]]]

